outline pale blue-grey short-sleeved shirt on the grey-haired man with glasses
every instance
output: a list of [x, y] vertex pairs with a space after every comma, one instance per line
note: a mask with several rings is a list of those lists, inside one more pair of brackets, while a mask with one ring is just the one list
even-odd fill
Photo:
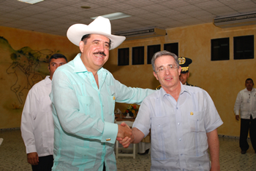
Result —
[[176, 101], [165, 90], [141, 103], [133, 127], [148, 135], [151, 128], [151, 170], [210, 170], [206, 132], [222, 124], [205, 90], [181, 84]]

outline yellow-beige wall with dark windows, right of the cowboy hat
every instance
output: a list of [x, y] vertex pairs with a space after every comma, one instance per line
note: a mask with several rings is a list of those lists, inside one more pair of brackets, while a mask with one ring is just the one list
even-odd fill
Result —
[[[179, 56], [193, 60], [193, 63], [189, 65], [189, 84], [202, 87], [211, 95], [224, 122], [218, 129], [219, 134], [239, 136], [240, 122], [236, 121], [233, 113], [236, 95], [245, 88], [245, 79], [252, 78], [256, 82], [256, 55], [255, 59], [251, 60], [233, 60], [233, 36], [246, 35], [256, 35], [256, 25], [218, 28], [208, 23], [170, 28], [167, 29], [165, 37], [124, 41], [118, 48], [130, 47], [131, 58], [132, 47], [145, 46], [146, 63], [147, 45], [161, 44], [163, 49], [163, 44], [178, 42]], [[211, 61], [211, 39], [225, 37], [230, 38], [230, 60]], [[157, 87], [159, 83], [153, 76], [151, 65], [116, 66], [117, 51], [113, 49], [110, 52], [110, 60], [105, 65], [105, 68], [108, 68], [116, 79], [131, 87], [151, 89]], [[116, 108], [120, 108], [121, 111], [125, 107], [126, 105], [116, 104]]]

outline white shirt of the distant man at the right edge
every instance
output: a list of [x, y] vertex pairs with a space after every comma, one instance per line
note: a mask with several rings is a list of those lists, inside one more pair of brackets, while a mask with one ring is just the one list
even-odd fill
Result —
[[252, 88], [252, 91], [248, 91], [246, 88], [238, 92], [236, 103], [234, 106], [236, 115], [239, 115], [241, 119], [256, 118], [256, 89]]

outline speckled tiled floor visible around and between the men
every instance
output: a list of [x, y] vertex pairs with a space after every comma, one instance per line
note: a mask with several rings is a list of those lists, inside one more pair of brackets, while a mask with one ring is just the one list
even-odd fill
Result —
[[[0, 131], [0, 138], [4, 138], [0, 146], [0, 170], [31, 170], [31, 165], [26, 162], [25, 146], [20, 136], [20, 130]], [[236, 138], [219, 137], [219, 144], [219, 159], [222, 171], [256, 170], [256, 154], [252, 146], [250, 146], [246, 154], [241, 154], [238, 147], [238, 139]], [[116, 164], [118, 170], [121, 171], [143, 171], [150, 170], [151, 161], [148, 154], [137, 154], [136, 159], [120, 157], [120, 159], [117, 159]]]

